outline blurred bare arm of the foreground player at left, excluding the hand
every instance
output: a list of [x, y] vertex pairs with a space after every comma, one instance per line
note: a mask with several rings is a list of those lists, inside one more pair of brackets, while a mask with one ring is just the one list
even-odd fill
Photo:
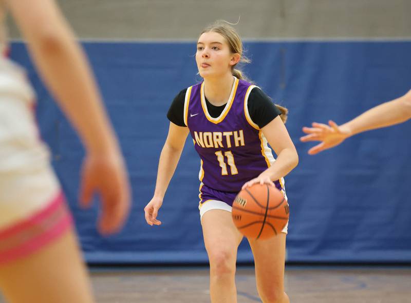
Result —
[[[89, 153], [117, 149], [86, 57], [53, 1], [8, 1], [35, 65]], [[27, 11], [35, 10], [32, 14]]]

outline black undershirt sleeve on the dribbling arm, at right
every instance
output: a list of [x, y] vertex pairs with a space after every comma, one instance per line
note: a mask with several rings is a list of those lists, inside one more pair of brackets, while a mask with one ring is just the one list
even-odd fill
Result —
[[259, 128], [265, 127], [274, 118], [281, 115], [281, 111], [275, 106], [271, 98], [258, 87], [251, 90], [247, 107], [251, 120]]

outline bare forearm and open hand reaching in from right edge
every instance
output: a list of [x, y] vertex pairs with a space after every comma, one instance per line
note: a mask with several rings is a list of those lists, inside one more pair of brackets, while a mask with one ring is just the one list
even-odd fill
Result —
[[321, 141], [308, 153], [314, 155], [341, 144], [346, 138], [372, 129], [403, 123], [411, 119], [411, 90], [405, 95], [373, 107], [351, 121], [338, 126], [332, 120], [328, 124], [312, 123], [312, 128], [304, 127], [307, 135], [302, 142]]

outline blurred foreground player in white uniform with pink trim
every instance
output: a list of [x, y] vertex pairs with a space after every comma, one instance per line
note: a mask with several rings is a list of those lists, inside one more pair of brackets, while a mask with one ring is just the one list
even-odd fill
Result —
[[130, 198], [116, 135], [59, 8], [53, 0], [0, 0], [0, 289], [12, 303], [91, 303], [73, 220], [39, 139], [34, 91], [23, 68], [6, 55], [7, 10], [85, 146], [82, 205], [100, 194], [102, 234], [121, 229]]

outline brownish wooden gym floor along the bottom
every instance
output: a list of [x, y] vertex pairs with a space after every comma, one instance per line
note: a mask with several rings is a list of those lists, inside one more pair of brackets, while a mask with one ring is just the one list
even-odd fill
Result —
[[[91, 279], [99, 303], [210, 302], [207, 267], [92, 268]], [[252, 267], [236, 281], [238, 303], [261, 302]], [[287, 266], [285, 286], [292, 303], [409, 303], [411, 267]]]

